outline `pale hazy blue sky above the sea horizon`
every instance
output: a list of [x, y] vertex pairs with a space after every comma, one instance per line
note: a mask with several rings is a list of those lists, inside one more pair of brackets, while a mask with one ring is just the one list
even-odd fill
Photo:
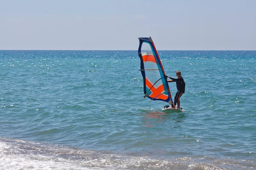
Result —
[[256, 50], [256, 0], [0, 0], [0, 50]]

